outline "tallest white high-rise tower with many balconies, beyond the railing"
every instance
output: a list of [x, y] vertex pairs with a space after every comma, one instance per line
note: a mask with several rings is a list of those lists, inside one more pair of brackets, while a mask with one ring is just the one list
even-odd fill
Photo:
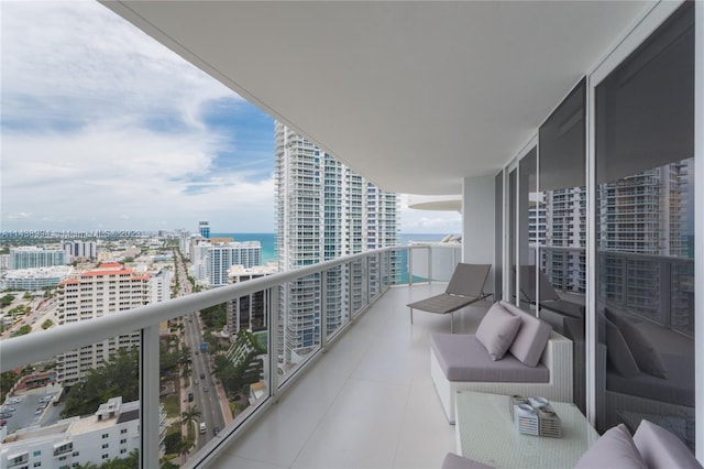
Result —
[[[280, 122], [275, 126], [275, 142], [279, 271], [398, 243], [399, 201], [395, 193], [375, 187]], [[348, 276], [354, 282], [358, 275], [361, 277], [354, 268], [341, 269], [337, 277], [327, 277], [324, 295], [315, 277], [290, 282], [282, 291], [282, 310], [287, 312], [280, 321], [287, 362], [295, 362], [296, 355], [320, 343], [321, 298], [328, 312], [328, 331], [336, 330], [355, 309], [362, 299], [350, 298], [342, 285]]]

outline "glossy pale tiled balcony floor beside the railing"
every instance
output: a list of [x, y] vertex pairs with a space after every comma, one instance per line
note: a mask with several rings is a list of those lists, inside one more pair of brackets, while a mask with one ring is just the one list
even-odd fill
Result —
[[[443, 288], [387, 292], [210, 467], [438, 467], [455, 439], [430, 380], [429, 336], [449, 332], [450, 318], [416, 312], [411, 326], [406, 304]], [[455, 313], [455, 334], [474, 331], [488, 305]]]

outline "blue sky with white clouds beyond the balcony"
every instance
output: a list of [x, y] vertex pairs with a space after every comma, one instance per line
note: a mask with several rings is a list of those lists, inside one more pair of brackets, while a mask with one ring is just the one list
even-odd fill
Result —
[[[96, 1], [0, 24], [0, 231], [275, 231], [273, 118]], [[402, 232], [461, 230], [406, 207]]]

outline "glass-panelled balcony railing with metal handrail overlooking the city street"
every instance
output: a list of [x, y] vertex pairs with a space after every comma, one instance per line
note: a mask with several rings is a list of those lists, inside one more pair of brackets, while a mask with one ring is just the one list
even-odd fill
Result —
[[[87, 374], [123, 361], [128, 364], [114, 369], [124, 375], [103, 377], [114, 380], [113, 389], [100, 394], [102, 401], [85, 402], [96, 408], [88, 405], [75, 414], [82, 417], [58, 415], [53, 405], [65, 408], [68, 399], [62, 397], [63, 386], [54, 383], [52, 401], [44, 402], [51, 405], [43, 408], [48, 406], [46, 412], [56, 413], [56, 419], [51, 429], [42, 426], [41, 432], [44, 438], [47, 433], [64, 432], [63, 439], [53, 443], [61, 463], [100, 465], [101, 458], [110, 455], [112, 459], [119, 449], [120, 458], [136, 458], [143, 468], [165, 461], [168, 467], [195, 467], [245, 432], [252, 417], [285, 393], [299, 372], [391, 286], [409, 283], [409, 259], [432, 265], [431, 253], [428, 247], [369, 251], [9, 338], [0, 341], [0, 371], [41, 368], [53, 373], [50, 381], [70, 372], [76, 378], [74, 388], [89, 393], [81, 388]], [[435, 279], [432, 272], [427, 279]], [[120, 348], [120, 338], [134, 337], [136, 347], [131, 351], [122, 348], [124, 352], [109, 353], [113, 341]], [[107, 364], [92, 368], [102, 350]], [[84, 361], [89, 371], [77, 368]], [[128, 377], [139, 389], [121, 395]], [[74, 405], [80, 404], [75, 399], [78, 392], [69, 394]], [[31, 399], [38, 396], [26, 397]], [[122, 417], [116, 417], [120, 412]], [[133, 426], [118, 426], [116, 435], [107, 429], [98, 435], [95, 459], [86, 460], [88, 451], [77, 448], [64, 428], [84, 422], [86, 414], [91, 425], [106, 428], [111, 419], [127, 421], [129, 414]], [[40, 428], [36, 423], [31, 426], [32, 432]], [[24, 460], [25, 451], [30, 459], [37, 455], [38, 450], [22, 446], [31, 437], [30, 429], [2, 432], [7, 446], [15, 446], [9, 448], [6, 456], [13, 459], [7, 463]]]

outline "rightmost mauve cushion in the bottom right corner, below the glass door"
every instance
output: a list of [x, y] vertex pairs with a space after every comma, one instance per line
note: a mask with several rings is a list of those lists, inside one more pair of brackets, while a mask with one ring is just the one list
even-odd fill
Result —
[[649, 421], [640, 421], [634, 443], [650, 469], [702, 468], [680, 438]]

